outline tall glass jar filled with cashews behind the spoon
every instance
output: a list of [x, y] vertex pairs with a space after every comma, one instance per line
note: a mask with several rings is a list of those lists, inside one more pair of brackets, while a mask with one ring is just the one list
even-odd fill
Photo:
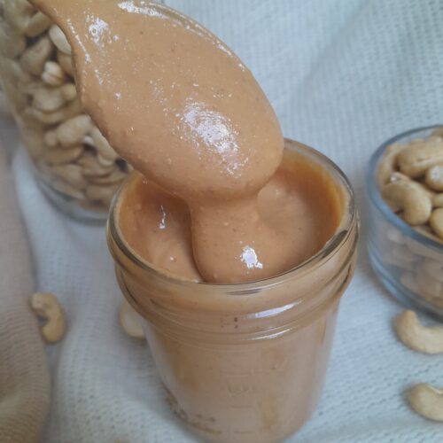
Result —
[[105, 222], [128, 164], [82, 112], [66, 36], [27, 0], [0, 0], [0, 83], [46, 196]]

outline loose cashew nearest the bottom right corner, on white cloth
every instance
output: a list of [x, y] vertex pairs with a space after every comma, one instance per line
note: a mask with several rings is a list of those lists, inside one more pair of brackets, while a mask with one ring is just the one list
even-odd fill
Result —
[[443, 422], [443, 390], [420, 383], [409, 389], [408, 401], [420, 416]]

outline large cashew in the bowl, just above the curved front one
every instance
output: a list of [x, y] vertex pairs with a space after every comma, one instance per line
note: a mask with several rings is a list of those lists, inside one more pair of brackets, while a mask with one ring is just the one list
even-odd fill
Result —
[[424, 175], [429, 167], [443, 163], [443, 141], [439, 138], [409, 144], [397, 156], [400, 171], [411, 178]]

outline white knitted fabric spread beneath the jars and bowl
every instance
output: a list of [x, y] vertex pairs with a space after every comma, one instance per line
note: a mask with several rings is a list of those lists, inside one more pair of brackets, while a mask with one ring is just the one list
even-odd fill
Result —
[[[443, 356], [400, 345], [400, 311], [369, 269], [363, 169], [377, 145], [443, 122], [441, 0], [167, 0], [244, 59], [284, 134], [334, 159], [361, 204], [361, 260], [341, 303], [323, 398], [291, 441], [437, 442], [443, 428], [410, 411], [408, 385], [443, 385]], [[120, 291], [103, 228], [82, 226], [43, 198], [22, 152], [19, 201], [38, 287], [58, 294], [68, 331], [51, 348], [53, 401], [44, 443], [189, 442], [168, 411], [144, 344], [117, 322]]]

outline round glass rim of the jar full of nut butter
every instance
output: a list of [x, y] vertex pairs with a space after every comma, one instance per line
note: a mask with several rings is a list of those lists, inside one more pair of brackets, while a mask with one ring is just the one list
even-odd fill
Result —
[[[301, 144], [289, 138], [284, 138], [285, 145], [292, 144], [296, 145], [298, 149], [311, 156], [314, 156], [315, 159], [321, 161], [322, 166], [326, 167], [330, 174], [334, 175], [334, 178], [338, 180], [338, 183], [342, 185], [344, 193], [346, 195], [346, 205], [345, 210], [343, 211], [340, 222], [338, 223], [338, 229], [336, 232], [330, 237], [330, 239], [323, 245], [322, 249], [320, 249], [317, 253], [311, 256], [309, 259], [303, 261], [299, 265], [294, 268], [290, 268], [283, 273], [280, 273], [276, 276], [272, 276], [269, 278], [255, 280], [252, 282], [242, 282], [235, 284], [213, 284], [207, 282], [197, 282], [190, 279], [186, 279], [180, 276], [175, 276], [172, 274], [167, 274], [165, 272], [159, 271], [157, 268], [154, 268], [150, 265], [149, 262], [143, 260], [139, 257], [134, 251], [131, 251], [131, 248], [126, 244], [120, 235], [120, 229], [118, 228], [117, 216], [118, 216], [118, 203], [120, 200], [120, 196], [122, 191], [125, 189], [125, 184], [128, 183], [131, 179], [131, 175], [122, 183], [120, 189], [113, 197], [113, 201], [111, 203], [108, 220], [107, 220], [107, 231], [108, 237], [111, 237], [113, 242], [120, 249], [120, 252], [123, 253], [131, 263], [135, 264], [137, 268], [147, 272], [151, 276], [159, 279], [160, 281], [167, 282], [167, 284], [177, 284], [183, 287], [183, 285], [187, 286], [189, 289], [210, 289], [211, 291], [222, 291], [223, 293], [228, 293], [229, 295], [246, 295], [253, 294], [257, 290], [266, 290], [267, 288], [274, 287], [278, 284], [285, 282], [289, 278], [293, 278], [295, 276], [301, 275], [303, 272], [308, 269], [314, 268], [316, 265], [321, 263], [323, 259], [330, 257], [333, 253], [337, 252], [342, 245], [346, 243], [347, 238], [352, 233], [352, 228], [357, 223], [357, 211], [355, 206], [355, 198], [354, 198], [354, 190], [346, 177], [345, 173], [328, 157], [326, 157], [323, 153], [318, 152], [314, 148], [307, 146], [307, 144]], [[108, 243], [110, 240], [108, 238]], [[111, 245], [110, 245], [110, 249]]]

